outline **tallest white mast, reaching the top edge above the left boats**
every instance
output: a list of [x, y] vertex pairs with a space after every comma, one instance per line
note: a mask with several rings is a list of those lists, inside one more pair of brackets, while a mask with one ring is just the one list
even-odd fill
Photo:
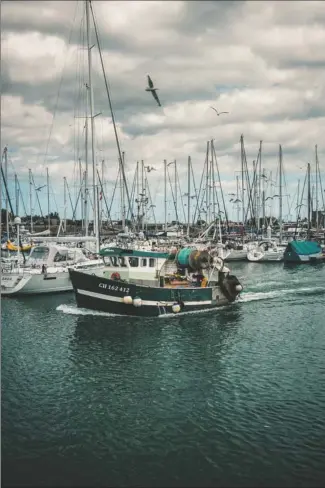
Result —
[[87, 46], [88, 46], [88, 86], [90, 98], [90, 128], [91, 128], [91, 160], [92, 160], [92, 177], [93, 177], [93, 206], [94, 206], [94, 234], [96, 240], [96, 252], [99, 252], [99, 228], [98, 228], [98, 206], [96, 191], [96, 166], [95, 166], [95, 119], [94, 119], [94, 93], [92, 87], [92, 55], [91, 50], [94, 47], [90, 44], [90, 16], [89, 0], [86, 0], [86, 24], [87, 24]]

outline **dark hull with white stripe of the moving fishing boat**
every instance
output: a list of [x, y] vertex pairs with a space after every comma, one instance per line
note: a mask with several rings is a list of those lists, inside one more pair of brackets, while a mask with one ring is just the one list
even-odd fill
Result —
[[136, 317], [214, 309], [234, 302], [242, 290], [234, 276], [213, 287], [167, 288], [105, 279], [71, 268], [69, 273], [79, 308]]

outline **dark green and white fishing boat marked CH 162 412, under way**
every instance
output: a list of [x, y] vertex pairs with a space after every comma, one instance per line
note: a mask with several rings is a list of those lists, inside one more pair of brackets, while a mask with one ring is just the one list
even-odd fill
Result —
[[243, 287], [220, 258], [183, 248], [177, 254], [103, 249], [102, 276], [69, 269], [78, 307], [158, 317], [234, 302]]

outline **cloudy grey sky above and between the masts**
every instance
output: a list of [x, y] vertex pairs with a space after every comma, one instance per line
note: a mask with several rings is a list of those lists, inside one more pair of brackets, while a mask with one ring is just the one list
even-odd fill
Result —
[[[250, 168], [263, 141], [262, 166], [275, 185], [282, 145], [284, 194], [291, 197], [285, 197], [284, 213], [294, 217], [297, 181], [302, 187], [308, 162], [315, 171], [316, 144], [325, 177], [324, 2], [92, 5], [129, 185], [137, 161], [156, 168], [148, 181], [158, 220], [163, 219], [163, 160], [177, 160], [185, 193], [188, 156], [198, 186], [211, 139], [228, 210], [236, 217], [228, 193], [236, 191], [235, 177], [241, 169], [241, 134]], [[51, 211], [63, 213], [64, 176], [73, 205], [78, 194], [78, 159], [84, 164], [85, 154], [84, 19], [82, 1], [1, 2], [1, 150], [8, 146], [13, 204], [17, 173], [27, 213], [29, 169], [37, 186], [46, 183], [49, 169]], [[95, 113], [101, 113], [95, 119], [96, 162], [104, 160], [110, 203], [118, 153], [96, 47], [92, 53]], [[147, 73], [159, 88], [162, 107], [144, 90]], [[230, 113], [218, 117], [211, 105]], [[268, 195], [274, 191], [269, 188]], [[46, 214], [46, 188], [39, 197]], [[118, 200], [117, 193], [115, 217]], [[268, 211], [276, 214], [277, 206], [274, 199]], [[35, 196], [33, 207], [39, 213]], [[171, 196], [168, 213], [173, 219]]]

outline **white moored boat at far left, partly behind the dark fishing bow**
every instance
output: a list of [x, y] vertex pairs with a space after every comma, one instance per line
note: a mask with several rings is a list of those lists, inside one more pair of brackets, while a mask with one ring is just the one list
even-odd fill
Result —
[[36, 295], [72, 291], [68, 267], [99, 272], [101, 259], [88, 258], [82, 249], [66, 245], [40, 245], [31, 250], [23, 266], [1, 263], [1, 295]]

